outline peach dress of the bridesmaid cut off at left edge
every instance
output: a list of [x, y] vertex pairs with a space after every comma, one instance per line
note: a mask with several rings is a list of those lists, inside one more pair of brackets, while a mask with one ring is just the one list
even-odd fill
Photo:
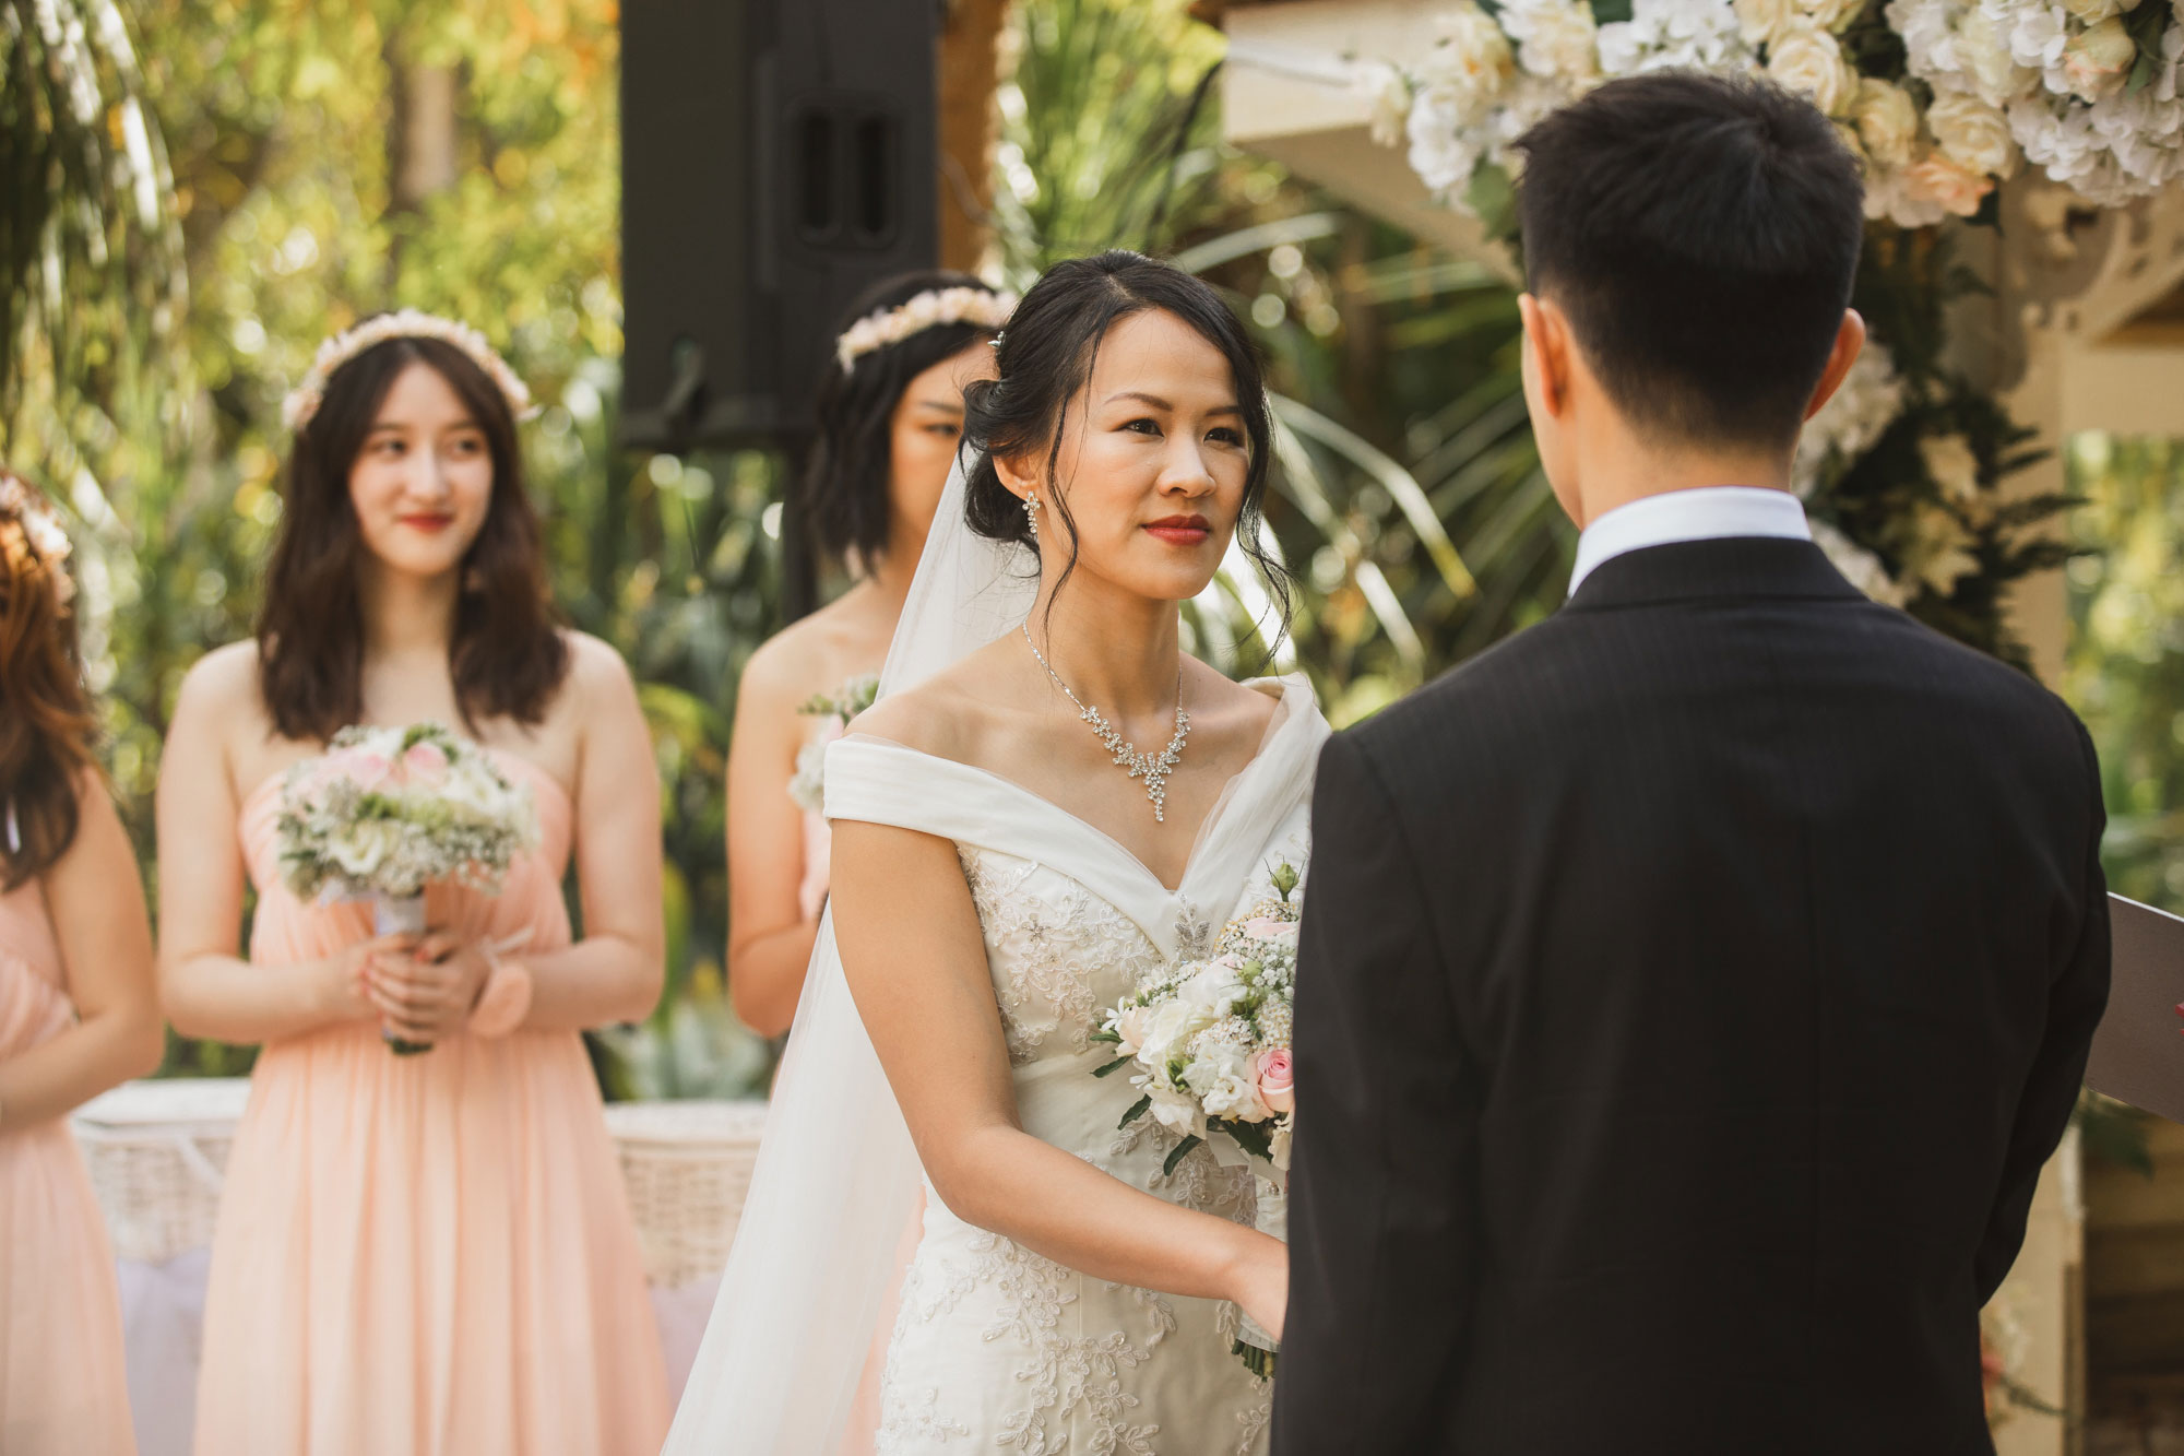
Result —
[[[0, 894], [0, 1060], [74, 1019], [33, 879]], [[135, 1452], [114, 1250], [66, 1117], [0, 1124], [0, 1452]]]

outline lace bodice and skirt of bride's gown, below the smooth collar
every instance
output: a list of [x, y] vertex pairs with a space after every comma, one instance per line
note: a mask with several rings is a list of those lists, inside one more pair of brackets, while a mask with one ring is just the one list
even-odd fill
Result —
[[[1160, 968], [1136, 920], [1053, 866], [961, 848], [1024, 1130], [1166, 1202], [1251, 1222], [1249, 1167], [1140, 1117], [1094, 1078], [1094, 1017]], [[1182, 914], [1203, 916], [1188, 905]], [[1048, 1065], [1055, 1062], [1055, 1065]], [[1059, 1065], [1068, 1062], [1068, 1065]], [[1251, 1456], [1271, 1386], [1230, 1353], [1234, 1307], [1088, 1279], [954, 1218], [928, 1191], [880, 1382], [878, 1456]], [[963, 1447], [963, 1439], [970, 1445]]]

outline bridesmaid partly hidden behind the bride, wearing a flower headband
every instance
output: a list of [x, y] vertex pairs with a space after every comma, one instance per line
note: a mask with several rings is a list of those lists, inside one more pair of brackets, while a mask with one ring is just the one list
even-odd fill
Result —
[[856, 586], [751, 654], [727, 754], [727, 984], [760, 1036], [788, 1030], [826, 905], [819, 752], [869, 702], [963, 439], [963, 385], [994, 372], [1013, 306], [970, 273], [889, 278], [850, 308], [819, 383], [802, 509]]

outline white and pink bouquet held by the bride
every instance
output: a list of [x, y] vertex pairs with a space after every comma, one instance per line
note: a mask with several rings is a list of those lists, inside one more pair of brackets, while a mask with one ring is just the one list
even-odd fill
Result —
[[[1131, 1084], [1144, 1093], [1120, 1126], [1151, 1115], [1175, 1132], [1166, 1172], [1203, 1141], [1225, 1163], [1262, 1163], [1254, 1222], [1275, 1237], [1289, 1231], [1299, 883], [1295, 866], [1275, 866], [1273, 896], [1230, 920], [1210, 960], [1175, 962], [1123, 997], [1094, 1034], [1120, 1056], [1092, 1076], [1133, 1067]], [[1223, 1156], [1227, 1146], [1236, 1154]], [[1273, 1347], [1245, 1316], [1236, 1355], [1254, 1375], [1273, 1373]]]

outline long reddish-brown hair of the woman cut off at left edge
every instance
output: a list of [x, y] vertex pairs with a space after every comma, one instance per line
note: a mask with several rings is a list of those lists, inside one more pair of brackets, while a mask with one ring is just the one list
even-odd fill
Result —
[[[26, 481], [15, 485], [35, 496]], [[61, 562], [39, 553], [15, 512], [0, 512], [0, 890], [44, 874], [76, 842], [76, 791], [98, 765], [96, 730]], [[9, 813], [17, 850], [4, 837]]]

